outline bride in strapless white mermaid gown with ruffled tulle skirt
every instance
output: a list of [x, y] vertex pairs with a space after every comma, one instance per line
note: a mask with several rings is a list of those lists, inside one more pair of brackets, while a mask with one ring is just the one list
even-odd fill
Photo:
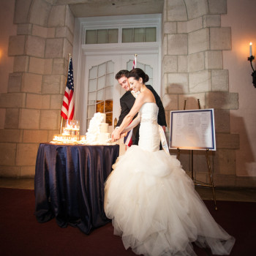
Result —
[[140, 140], [119, 158], [105, 183], [105, 213], [114, 234], [138, 255], [195, 255], [192, 242], [210, 247], [214, 255], [229, 255], [235, 238], [211, 217], [176, 157], [159, 150], [162, 127], [154, 95], [145, 86], [148, 75], [136, 68], [128, 80], [140, 94], [112, 137], [118, 140], [140, 122]]

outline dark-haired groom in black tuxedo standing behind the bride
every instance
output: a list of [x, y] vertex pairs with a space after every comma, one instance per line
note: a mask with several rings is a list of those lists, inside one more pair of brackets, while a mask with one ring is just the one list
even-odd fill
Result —
[[[121, 122], [123, 121], [124, 117], [127, 116], [127, 114], [129, 113], [129, 110], [132, 109], [132, 106], [135, 102], [136, 95], [132, 94], [131, 89], [129, 87], [128, 78], [127, 78], [128, 73], [129, 73], [128, 70], [120, 70], [116, 74], [116, 80], [118, 80], [118, 83], [120, 84], [120, 86], [126, 91], [126, 93], [120, 98], [121, 113], [118, 118], [116, 127], [119, 127], [121, 125]], [[159, 95], [157, 94], [157, 91], [155, 91], [152, 86], [146, 85], [146, 87], [154, 94], [154, 97], [155, 97], [156, 103], [157, 103], [157, 107], [159, 108], [159, 112], [158, 112], [158, 116], [157, 116], [157, 123], [159, 125], [161, 125], [165, 131], [165, 127], [167, 126], [167, 124], [165, 121], [165, 109], [162, 105], [162, 101], [161, 101]], [[139, 127], [140, 127], [140, 124], [138, 124], [137, 127], [133, 128], [132, 145], [138, 145], [138, 141], [139, 141], [138, 129], [139, 129]], [[112, 138], [112, 136], [111, 136], [111, 138]]]

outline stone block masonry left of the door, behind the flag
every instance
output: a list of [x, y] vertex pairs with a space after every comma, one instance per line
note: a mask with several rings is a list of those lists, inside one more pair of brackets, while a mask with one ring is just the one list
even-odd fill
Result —
[[10, 37], [14, 57], [0, 129], [0, 176], [34, 176], [39, 143], [59, 133], [67, 62], [72, 53], [74, 17], [66, 5], [46, 0], [16, 0], [17, 35]]

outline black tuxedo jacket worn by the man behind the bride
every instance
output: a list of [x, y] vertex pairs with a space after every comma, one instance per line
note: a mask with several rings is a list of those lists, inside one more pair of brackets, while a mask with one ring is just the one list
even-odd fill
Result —
[[[157, 123], [161, 126], [167, 126], [166, 120], [165, 120], [165, 109], [162, 105], [162, 101], [157, 94], [157, 91], [154, 90], [152, 86], [146, 85], [146, 87], [152, 91], [154, 94], [154, 98], [156, 99], [157, 107], [159, 108], [158, 116], [157, 116]], [[129, 113], [129, 110], [132, 109], [132, 106], [135, 102], [135, 97], [132, 96], [132, 93], [130, 91], [127, 91], [121, 98], [120, 98], [120, 105], [121, 105], [121, 113], [118, 119], [118, 122], [116, 124], [117, 127], [121, 125], [121, 122], [123, 121], [124, 117], [127, 116]], [[135, 116], [136, 117], [136, 116]], [[132, 133], [132, 141], [133, 144], [138, 144], [138, 127], [135, 127], [133, 129]]]

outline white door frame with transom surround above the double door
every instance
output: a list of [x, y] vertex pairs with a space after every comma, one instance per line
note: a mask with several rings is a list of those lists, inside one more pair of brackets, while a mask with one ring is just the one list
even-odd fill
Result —
[[[86, 95], [86, 56], [105, 56], [105, 55], [132, 55], [140, 56], [154, 54], [157, 59], [157, 75], [154, 76], [154, 89], [161, 97], [161, 20], [162, 15], [127, 15], [127, 16], [111, 16], [111, 17], [91, 17], [91, 18], [75, 18], [74, 44], [73, 44], [73, 69], [75, 78], [75, 118], [82, 121], [85, 109], [83, 108], [83, 98]], [[157, 26], [157, 42], [132, 42], [121, 43], [121, 28], [124, 27], [142, 27]], [[84, 44], [86, 29], [102, 29], [118, 27], [118, 43], [111, 44]], [[88, 79], [88, 78], [87, 78]], [[87, 99], [86, 99], [87, 100]]]

